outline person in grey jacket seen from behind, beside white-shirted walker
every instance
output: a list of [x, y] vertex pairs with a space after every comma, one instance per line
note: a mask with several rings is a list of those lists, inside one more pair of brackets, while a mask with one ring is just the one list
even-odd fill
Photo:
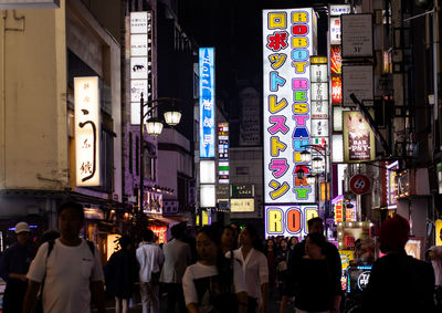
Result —
[[172, 240], [162, 246], [165, 263], [159, 281], [165, 284], [167, 292], [167, 313], [186, 313], [185, 295], [182, 293], [182, 275], [192, 261], [189, 243], [182, 241], [186, 225], [178, 223], [170, 229]]

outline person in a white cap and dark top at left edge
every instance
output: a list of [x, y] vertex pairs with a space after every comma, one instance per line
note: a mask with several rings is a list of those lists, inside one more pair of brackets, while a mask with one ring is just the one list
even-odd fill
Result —
[[21, 312], [28, 288], [27, 273], [32, 261], [29, 247], [30, 228], [24, 221], [15, 225], [17, 242], [9, 247], [0, 261], [0, 275], [7, 282], [2, 312]]

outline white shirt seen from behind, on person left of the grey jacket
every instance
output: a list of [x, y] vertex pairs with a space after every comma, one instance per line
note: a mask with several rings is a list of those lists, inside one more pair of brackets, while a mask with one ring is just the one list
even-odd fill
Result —
[[161, 248], [150, 242], [141, 242], [136, 253], [139, 263], [139, 281], [150, 282], [151, 273], [159, 272], [165, 261]]

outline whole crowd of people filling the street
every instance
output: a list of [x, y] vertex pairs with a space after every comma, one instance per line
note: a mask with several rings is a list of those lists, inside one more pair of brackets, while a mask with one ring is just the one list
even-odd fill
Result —
[[[128, 312], [138, 293], [143, 312], [265, 313], [269, 299], [280, 300], [280, 313], [343, 312], [341, 262], [337, 248], [324, 236], [320, 218], [308, 220], [308, 234], [269, 238], [246, 225], [207, 226], [190, 236], [185, 223], [171, 228], [172, 240], [158, 244], [144, 229], [141, 241], [119, 238], [104, 269], [97, 248], [82, 239], [83, 207], [66, 202], [59, 208], [59, 231], [48, 231], [35, 255], [28, 248], [30, 228], [15, 226], [17, 243], [0, 261], [7, 282], [3, 312], [106, 312], [105, 292], [115, 298], [115, 312]], [[440, 312], [436, 298], [441, 271], [430, 262], [407, 255], [409, 222], [396, 215], [382, 222], [380, 249], [386, 254], [372, 265], [358, 312]], [[441, 233], [442, 239], [442, 233]], [[370, 242], [360, 241], [360, 260]], [[429, 251], [434, 261], [441, 249]], [[440, 265], [440, 264], [439, 264]], [[439, 305], [441, 303], [439, 302]]]

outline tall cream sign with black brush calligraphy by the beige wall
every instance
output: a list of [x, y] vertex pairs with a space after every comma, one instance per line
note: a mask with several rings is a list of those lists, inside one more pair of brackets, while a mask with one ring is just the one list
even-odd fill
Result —
[[98, 77], [74, 77], [76, 186], [101, 185]]

